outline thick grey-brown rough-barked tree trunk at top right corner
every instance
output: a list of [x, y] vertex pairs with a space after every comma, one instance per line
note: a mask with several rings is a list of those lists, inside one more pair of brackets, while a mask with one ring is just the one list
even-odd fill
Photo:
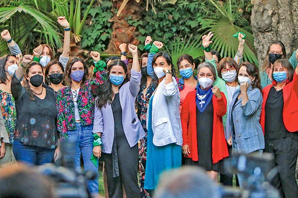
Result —
[[298, 0], [251, 0], [251, 26], [260, 67], [274, 40], [285, 44], [287, 58], [298, 46]]

